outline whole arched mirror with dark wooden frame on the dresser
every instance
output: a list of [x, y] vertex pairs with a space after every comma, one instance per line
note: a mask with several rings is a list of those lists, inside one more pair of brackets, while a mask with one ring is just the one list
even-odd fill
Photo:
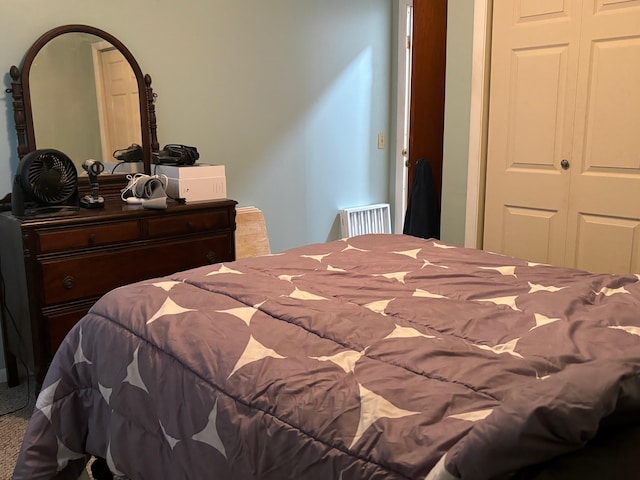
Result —
[[[159, 148], [151, 77], [117, 38], [87, 25], [54, 28], [10, 74], [20, 158], [58, 149], [85, 183], [82, 163], [99, 160], [108, 174], [101, 184], [114, 190], [127, 172], [150, 172], [151, 152]], [[142, 147], [139, 163], [113, 157], [133, 144]]]

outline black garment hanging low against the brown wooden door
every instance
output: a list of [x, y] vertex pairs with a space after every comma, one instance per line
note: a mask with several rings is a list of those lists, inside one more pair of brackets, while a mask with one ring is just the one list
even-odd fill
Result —
[[436, 198], [431, 164], [424, 158], [416, 165], [402, 233], [420, 238], [440, 238], [440, 202]]

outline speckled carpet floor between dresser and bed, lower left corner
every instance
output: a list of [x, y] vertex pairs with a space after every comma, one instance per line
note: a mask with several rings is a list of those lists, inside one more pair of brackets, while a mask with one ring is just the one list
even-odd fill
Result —
[[[23, 380], [13, 388], [0, 383], [0, 480], [9, 480], [13, 474], [22, 438], [35, 404], [33, 379], [30, 382]], [[83, 478], [91, 478], [91, 475], [88, 473]]]

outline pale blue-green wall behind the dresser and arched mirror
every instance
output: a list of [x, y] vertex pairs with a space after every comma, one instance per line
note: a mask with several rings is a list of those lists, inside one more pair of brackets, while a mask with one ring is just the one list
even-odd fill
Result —
[[[2, 1], [3, 90], [49, 29], [108, 31], [153, 79], [161, 146], [224, 164], [228, 196], [264, 211], [273, 251], [323, 242], [340, 208], [391, 200], [376, 138], [390, 135], [393, 1]], [[11, 95], [0, 110], [1, 198], [18, 164]]]

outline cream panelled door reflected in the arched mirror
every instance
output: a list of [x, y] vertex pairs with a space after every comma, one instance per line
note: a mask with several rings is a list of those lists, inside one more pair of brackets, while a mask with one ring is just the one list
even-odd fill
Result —
[[142, 144], [138, 83], [122, 53], [108, 42], [93, 45], [102, 158], [131, 144]]

